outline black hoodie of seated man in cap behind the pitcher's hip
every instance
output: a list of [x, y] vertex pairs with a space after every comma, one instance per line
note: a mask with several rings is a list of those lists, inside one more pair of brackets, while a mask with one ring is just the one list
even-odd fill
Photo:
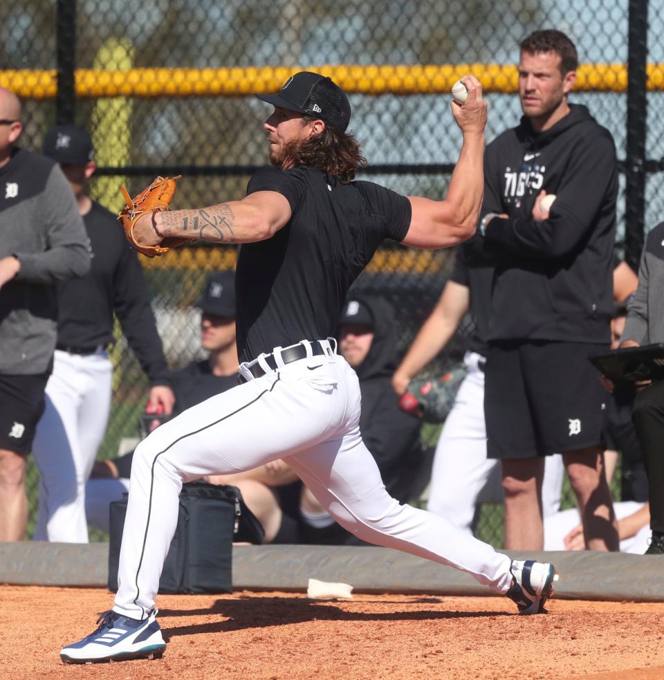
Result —
[[352, 299], [364, 303], [374, 317], [374, 341], [355, 369], [362, 394], [362, 440], [376, 460], [388, 493], [407, 502], [416, 471], [423, 463], [422, 421], [400, 410], [391, 386], [397, 365], [394, 311], [378, 297], [353, 295]]

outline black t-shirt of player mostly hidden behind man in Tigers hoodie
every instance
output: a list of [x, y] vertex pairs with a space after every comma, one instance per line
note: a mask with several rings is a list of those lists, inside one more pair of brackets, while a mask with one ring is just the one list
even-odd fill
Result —
[[488, 351], [491, 286], [495, 268], [474, 256], [474, 244], [463, 243], [457, 248], [457, 260], [450, 280], [470, 290], [470, 311], [475, 327], [468, 349], [486, 356]]

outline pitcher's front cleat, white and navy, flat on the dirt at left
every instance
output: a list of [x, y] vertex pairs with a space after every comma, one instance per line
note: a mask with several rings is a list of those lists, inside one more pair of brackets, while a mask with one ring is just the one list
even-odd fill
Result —
[[64, 663], [102, 663], [129, 659], [157, 659], [166, 649], [153, 609], [143, 621], [112, 610], [104, 612], [95, 632], [60, 650]]

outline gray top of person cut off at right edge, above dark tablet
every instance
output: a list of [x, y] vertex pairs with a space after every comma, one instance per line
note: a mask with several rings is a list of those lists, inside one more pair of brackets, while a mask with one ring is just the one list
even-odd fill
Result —
[[645, 239], [638, 268], [638, 288], [627, 304], [621, 340], [664, 342], [664, 222]]

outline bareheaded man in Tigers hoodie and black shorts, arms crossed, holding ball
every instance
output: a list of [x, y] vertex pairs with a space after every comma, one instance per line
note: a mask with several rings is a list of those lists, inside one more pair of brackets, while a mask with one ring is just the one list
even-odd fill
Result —
[[586, 107], [568, 102], [571, 40], [542, 30], [520, 47], [524, 117], [486, 149], [479, 227], [497, 261], [485, 412], [488, 456], [502, 461], [505, 546], [542, 549], [544, 457], [562, 452], [587, 546], [618, 550], [605, 393], [588, 361], [609, 347], [616, 149]]

